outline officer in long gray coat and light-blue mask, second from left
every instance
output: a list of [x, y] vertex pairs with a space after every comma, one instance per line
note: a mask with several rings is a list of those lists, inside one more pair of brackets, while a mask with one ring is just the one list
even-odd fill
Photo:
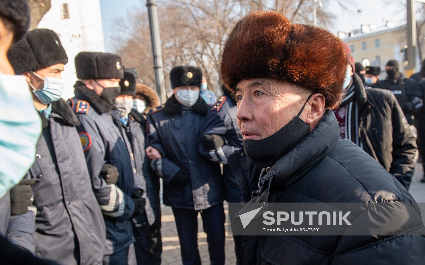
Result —
[[[25, 76], [42, 120], [35, 162], [25, 177], [33, 207], [14, 202], [14, 197], [26, 196], [24, 189], [11, 192], [13, 242], [63, 264], [100, 264], [105, 223], [76, 130], [80, 123], [61, 98], [68, 56], [54, 31], [34, 29], [8, 57], [15, 72]], [[36, 230], [31, 229], [34, 223]]]

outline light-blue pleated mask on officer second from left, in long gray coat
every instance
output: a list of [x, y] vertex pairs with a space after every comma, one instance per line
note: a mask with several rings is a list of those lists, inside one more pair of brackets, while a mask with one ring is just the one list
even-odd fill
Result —
[[33, 93], [40, 100], [42, 104], [48, 105], [52, 102], [58, 101], [65, 90], [63, 80], [54, 77], [41, 77], [37, 73], [31, 72], [38, 78], [44, 80], [44, 87], [37, 90], [31, 83], [28, 83], [33, 88]]

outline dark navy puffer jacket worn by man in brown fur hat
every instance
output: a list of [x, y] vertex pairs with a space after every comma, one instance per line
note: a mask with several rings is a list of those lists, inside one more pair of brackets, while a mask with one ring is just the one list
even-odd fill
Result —
[[[228, 161], [244, 199], [253, 195], [250, 202], [414, 202], [377, 161], [340, 138], [332, 111], [326, 111], [317, 127], [276, 162], [260, 183], [258, 177], [244, 174], [247, 167], [242, 151], [230, 155]], [[253, 193], [255, 190], [258, 192]], [[391, 227], [391, 223], [384, 225]], [[423, 228], [422, 221], [416, 225]], [[238, 236], [235, 242], [238, 260], [244, 265], [423, 264], [425, 259], [422, 236]]]

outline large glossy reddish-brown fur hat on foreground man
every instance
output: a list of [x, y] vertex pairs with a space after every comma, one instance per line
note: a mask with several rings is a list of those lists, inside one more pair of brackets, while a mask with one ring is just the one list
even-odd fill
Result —
[[233, 28], [221, 57], [221, 78], [235, 92], [244, 79], [268, 78], [322, 93], [338, 105], [347, 66], [342, 41], [322, 28], [291, 24], [281, 14], [258, 11]]

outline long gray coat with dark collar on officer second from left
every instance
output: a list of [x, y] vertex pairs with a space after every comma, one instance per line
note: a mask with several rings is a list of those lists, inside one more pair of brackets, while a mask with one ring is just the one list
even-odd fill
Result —
[[105, 224], [75, 128], [79, 121], [63, 99], [52, 104], [48, 119], [40, 116], [42, 135], [35, 162], [25, 176], [36, 180], [31, 189], [37, 215], [35, 221], [34, 217], [11, 218], [9, 226], [22, 229], [21, 238], [30, 238], [35, 222], [37, 257], [67, 265], [102, 264]]

